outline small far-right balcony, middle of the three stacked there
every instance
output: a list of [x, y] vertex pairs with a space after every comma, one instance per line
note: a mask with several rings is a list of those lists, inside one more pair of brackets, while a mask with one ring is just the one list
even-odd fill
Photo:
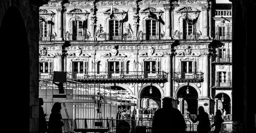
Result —
[[212, 55], [212, 63], [231, 64], [232, 63], [232, 55]]

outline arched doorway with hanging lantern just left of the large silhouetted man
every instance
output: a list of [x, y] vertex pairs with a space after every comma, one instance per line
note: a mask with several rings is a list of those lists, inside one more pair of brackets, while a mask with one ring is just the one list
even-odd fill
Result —
[[161, 92], [155, 86], [147, 86], [140, 93], [139, 108], [161, 108]]

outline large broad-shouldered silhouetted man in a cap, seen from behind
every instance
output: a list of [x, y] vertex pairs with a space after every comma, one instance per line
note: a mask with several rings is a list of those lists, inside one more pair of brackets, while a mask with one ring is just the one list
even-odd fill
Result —
[[155, 112], [152, 132], [186, 132], [186, 122], [178, 109], [172, 107], [172, 98], [163, 98], [163, 108]]

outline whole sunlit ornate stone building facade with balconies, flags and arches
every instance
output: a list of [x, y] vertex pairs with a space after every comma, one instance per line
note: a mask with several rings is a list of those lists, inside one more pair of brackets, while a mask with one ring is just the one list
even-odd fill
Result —
[[138, 109], [173, 97], [182, 114], [231, 114], [231, 24], [231, 3], [216, 1], [49, 1], [39, 9], [39, 79], [66, 71], [126, 90]]

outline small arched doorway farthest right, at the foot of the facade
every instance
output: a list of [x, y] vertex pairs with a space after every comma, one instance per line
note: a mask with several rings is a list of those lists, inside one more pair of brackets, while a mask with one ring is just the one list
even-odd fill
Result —
[[[222, 98], [223, 97], [223, 98]], [[223, 113], [223, 109], [227, 111], [227, 114], [231, 113], [231, 99], [225, 93], [219, 93], [215, 96], [215, 110], [221, 110]]]

